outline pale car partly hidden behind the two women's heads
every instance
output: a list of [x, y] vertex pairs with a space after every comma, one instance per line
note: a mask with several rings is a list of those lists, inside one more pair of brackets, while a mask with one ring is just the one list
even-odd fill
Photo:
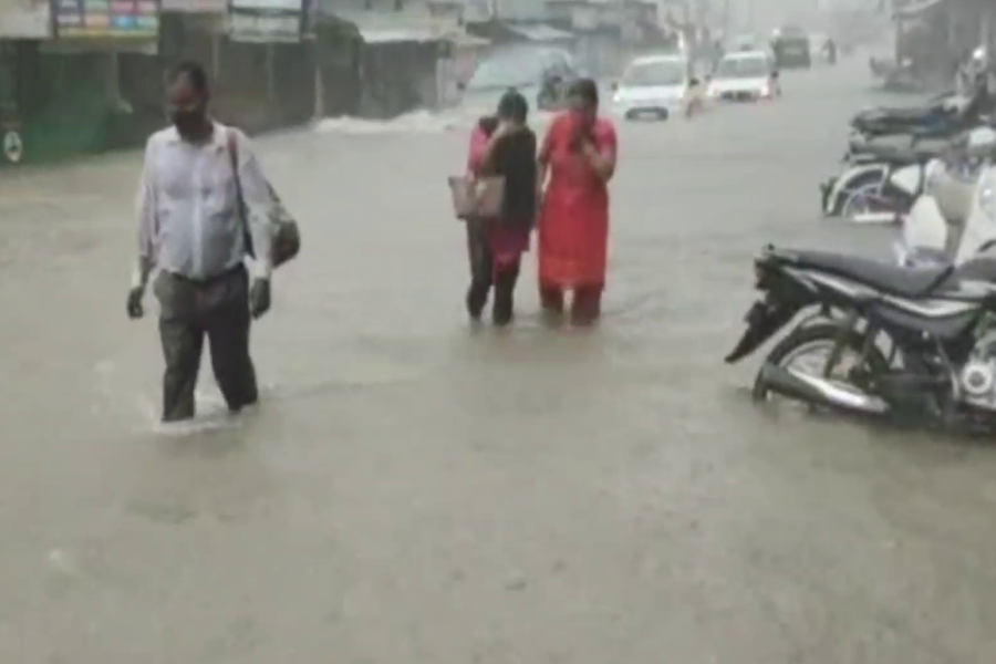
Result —
[[567, 49], [518, 43], [499, 46], [484, 59], [463, 86], [464, 105], [494, 112], [498, 100], [515, 87], [537, 108], [557, 108], [567, 89], [583, 73]]

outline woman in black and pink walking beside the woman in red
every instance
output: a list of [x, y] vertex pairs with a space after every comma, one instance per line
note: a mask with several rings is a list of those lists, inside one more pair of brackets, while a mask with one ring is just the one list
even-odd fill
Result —
[[515, 315], [521, 257], [529, 249], [529, 236], [536, 224], [537, 141], [527, 125], [528, 114], [526, 97], [508, 91], [498, 104], [498, 122], [487, 139], [483, 141], [478, 134], [471, 141], [471, 174], [505, 180], [500, 216], [467, 221], [471, 260], [467, 312], [478, 320], [494, 287], [491, 319], [496, 325], [507, 325]]

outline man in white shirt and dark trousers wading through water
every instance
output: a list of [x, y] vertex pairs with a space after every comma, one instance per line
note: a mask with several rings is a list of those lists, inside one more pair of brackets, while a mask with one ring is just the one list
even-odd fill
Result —
[[[138, 264], [128, 291], [132, 319], [154, 268], [166, 373], [163, 421], [194, 417], [194, 388], [204, 338], [229, 411], [259, 398], [249, 357], [249, 322], [270, 309], [272, 199], [246, 135], [208, 115], [204, 69], [183, 63], [169, 76], [169, 128], [145, 148], [138, 191]], [[235, 165], [238, 165], [236, 173]], [[245, 220], [239, 198], [245, 203]], [[251, 231], [252, 286], [243, 259]]]

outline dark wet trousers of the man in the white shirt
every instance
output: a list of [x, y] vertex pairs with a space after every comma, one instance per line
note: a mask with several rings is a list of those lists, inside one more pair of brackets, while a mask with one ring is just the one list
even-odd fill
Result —
[[163, 421], [194, 417], [194, 390], [204, 339], [211, 349], [215, 380], [228, 408], [238, 412], [258, 398], [256, 370], [249, 356], [249, 279], [242, 266], [205, 282], [160, 273], [155, 283], [162, 307], [159, 336]]

